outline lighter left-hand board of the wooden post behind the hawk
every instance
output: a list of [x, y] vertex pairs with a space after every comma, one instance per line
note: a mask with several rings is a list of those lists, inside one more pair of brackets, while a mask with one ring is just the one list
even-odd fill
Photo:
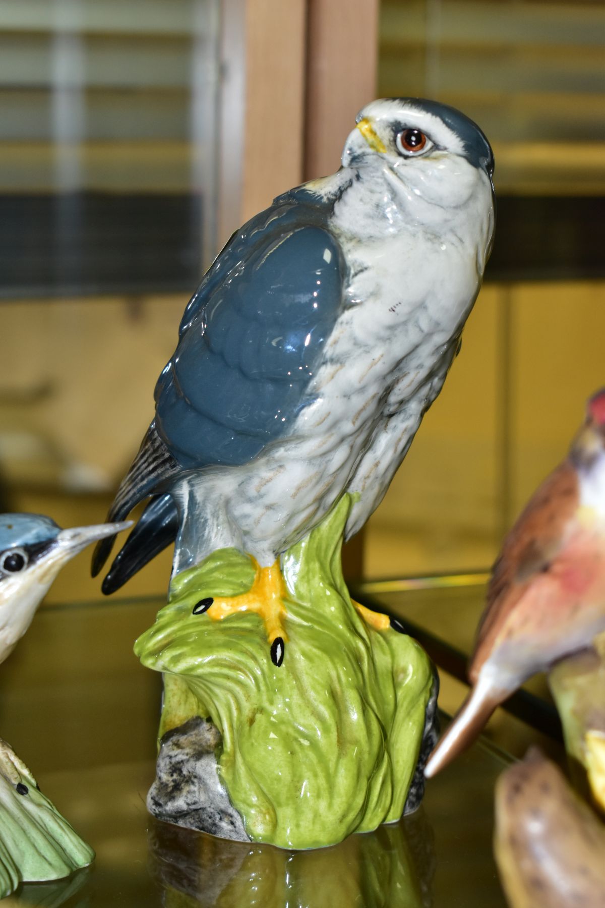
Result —
[[307, 0], [222, 0], [219, 240], [302, 181]]

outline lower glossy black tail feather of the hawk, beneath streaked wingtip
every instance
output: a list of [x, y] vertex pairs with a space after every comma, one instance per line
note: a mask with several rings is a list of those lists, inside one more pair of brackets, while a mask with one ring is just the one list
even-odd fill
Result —
[[102, 582], [105, 596], [120, 589], [151, 558], [174, 542], [179, 529], [177, 509], [170, 495], [151, 498], [130, 536], [113, 559]]

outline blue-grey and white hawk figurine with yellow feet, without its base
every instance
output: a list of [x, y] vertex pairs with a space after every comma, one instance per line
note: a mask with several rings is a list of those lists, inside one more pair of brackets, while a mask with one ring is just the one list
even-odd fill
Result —
[[[441, 390], [493, 238], [493, 154], [444, 104], [368, 104], [337, 173], [235, 233], [189, 302], [155, 418], [109, 520], [151, 496], [103, 583], [176, 538], [173, 575], [219, 548], [255, 559], [249, 597], [283, 658], [279, 558], [346, 493], [346, 538], [385, 494]], [[112, 548], [97, 547], [93, 574]]]

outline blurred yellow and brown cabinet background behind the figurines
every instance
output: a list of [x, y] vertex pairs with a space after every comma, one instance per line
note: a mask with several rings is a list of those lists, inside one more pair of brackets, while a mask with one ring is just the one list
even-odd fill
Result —
[[[372, 97], [420, 95], [493, 143], [496, 243], [353, 569], [487, 568], [605, 384], [604, 28], [600, 0], [3, 0], [2, 509], [102, 521], [229, 233], [336, 170]], [[101, 597], [88, 564], [49, 600]]]

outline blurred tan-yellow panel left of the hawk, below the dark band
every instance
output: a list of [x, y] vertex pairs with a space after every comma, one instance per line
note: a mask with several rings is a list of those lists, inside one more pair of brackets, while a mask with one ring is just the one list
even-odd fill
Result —
[[[19, 301], [0, 306], [0, 470], [7, 506], [63, 527], [101, 523], [153, 416], [187, 296]], [[100, 597], [83, 552], [48, 601]], [[163, 593], [164, 553], [126, 588]]]

